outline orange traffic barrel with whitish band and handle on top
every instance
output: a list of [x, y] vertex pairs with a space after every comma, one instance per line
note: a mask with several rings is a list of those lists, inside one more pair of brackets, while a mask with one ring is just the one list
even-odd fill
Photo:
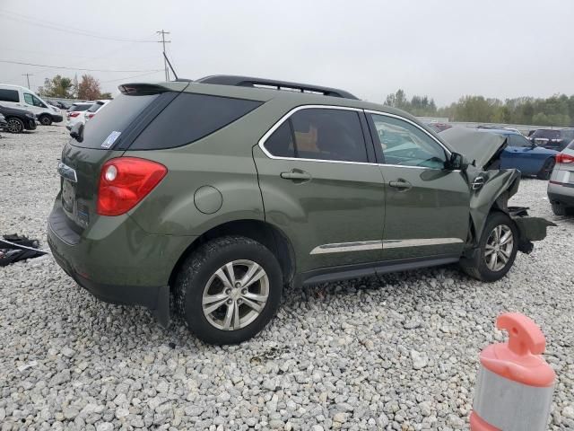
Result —
[[496, 327], [508, 331], [509, 341], [481, 352], [470, 429], [543, 431], [556, 379], [541, 356], [544, 334], [534, 321], [517, 312], [501, 314]]

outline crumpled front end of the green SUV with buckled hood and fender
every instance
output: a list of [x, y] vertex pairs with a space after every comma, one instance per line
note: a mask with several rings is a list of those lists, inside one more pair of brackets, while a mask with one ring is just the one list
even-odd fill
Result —
[[509, 198], [517, 193], [521, 174], [516, 169], [500, 169], [506, 137], [470, 128], [448, 128], [440, 136], [466, 159], [464, 172], [471, 198], [469, 238], [463, 259], [478, 259], [478, 241], [492, 210], [507, 214], [516, 224], [518, 251], [526, 254], [533, 251], [533, 242], [544, 240], [546, 228], [556, 224], [542, 217], [528, 216], [527, 207], [509, 207]]

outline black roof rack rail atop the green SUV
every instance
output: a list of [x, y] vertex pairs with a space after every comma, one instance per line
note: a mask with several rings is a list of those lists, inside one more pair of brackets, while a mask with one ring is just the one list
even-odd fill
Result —
[[236, 75], [211, 75], [196, 80], [196, 83], [235, 85], [239, 87], [271, 88], [274, 90], [286, 90], [296, 92], [307, 92], [321, 94], [324, 96], [342, 97], [344, 99], [358, 99], [350, 92], [338, 90], [336, 88], [321, 87], [319, 85], [309, 85], [300, 83], [289, 83], [287, 81], [276, 81], [274, 79], [253, 78], [249, 76]]

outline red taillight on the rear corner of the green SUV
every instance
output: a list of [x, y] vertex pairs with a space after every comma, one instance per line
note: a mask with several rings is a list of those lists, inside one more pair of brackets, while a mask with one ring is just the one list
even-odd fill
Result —
[[135, 157], [118, 157], [104, 163], [100, 172], [100, 216], [119, 216], [145, 198], [168, 173], [161, 163]]

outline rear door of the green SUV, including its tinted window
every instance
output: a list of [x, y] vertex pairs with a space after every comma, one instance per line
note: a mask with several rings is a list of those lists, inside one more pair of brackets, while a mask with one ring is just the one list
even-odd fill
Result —
[[254, 147], [265, 220], [288, 235], [298, 272], [381, 258], [384, 187], [362, 116], [299, 107]]

